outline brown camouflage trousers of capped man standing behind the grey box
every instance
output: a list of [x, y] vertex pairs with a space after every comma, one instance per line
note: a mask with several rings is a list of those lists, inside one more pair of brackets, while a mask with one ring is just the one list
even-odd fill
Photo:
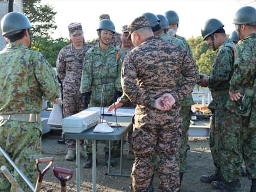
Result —
[[[81, 112], [81, 110], [86, 109], [86, 104], [84, 104], [83, 102], [82, 95], [80, 93], [70, 94], [69, 90], [63, 90], [62, 105], [63, 105], [63, 117], [74, 115], [76, 113]], [[68, 149], [76, 148], [76, 141], [74, 139], [66, 139], [65, 143]], [[80, 146], [83, 149], [84, 141], [81, 141]]]

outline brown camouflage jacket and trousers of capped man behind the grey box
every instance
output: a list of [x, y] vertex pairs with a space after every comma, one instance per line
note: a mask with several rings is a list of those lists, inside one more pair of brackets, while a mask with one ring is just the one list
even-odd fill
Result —
[[[70, 43], [66, 47], [63, 47], [58, 55], [56, 69], [63, 86], [63, 117], [68, 117], [70, 115], [79, 113], [81, 110], [84, 110], [87, 107], [84, 103], [82, 95], [79, 92], [79, 88], [81, 83], [84, 56], [91, 47], [93, 46], [84, 43], [82, 51], [77, 51], [73, 44]], [[67, 139], [66, 145], [68, 149], [75, 149], [76, 141], [73, 139]]]

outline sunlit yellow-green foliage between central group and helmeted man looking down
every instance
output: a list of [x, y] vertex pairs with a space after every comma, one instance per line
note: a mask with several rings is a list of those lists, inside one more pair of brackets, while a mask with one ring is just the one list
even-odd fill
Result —
[[200, 73], [209, 74], [212, 70], [212, 63], [214, 63], [216, 52], [212, 50], [206, 41], [203, 41], [202, 36], [188, 39], [189, 46], [193, 52], [193, 57], [198, 65]]

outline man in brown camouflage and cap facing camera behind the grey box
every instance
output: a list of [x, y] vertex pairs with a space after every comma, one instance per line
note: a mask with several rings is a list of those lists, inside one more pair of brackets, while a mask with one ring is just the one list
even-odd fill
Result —
[[[87, 108], [79, 88], [84, 55], [87, 50], [93, 47], [84, 42], [82, 25], [80, 23], [68, 25], [68, 31], [71, 43], [60, 50], [56, 63], [58, 76], [63, 86], [63, 117], [74, 115]], [[65, 160], [74, 160], [76, 141], [67, 139], [66, 145], [68, 153]], [[81, 145], [83, 144], [81, 143]]]

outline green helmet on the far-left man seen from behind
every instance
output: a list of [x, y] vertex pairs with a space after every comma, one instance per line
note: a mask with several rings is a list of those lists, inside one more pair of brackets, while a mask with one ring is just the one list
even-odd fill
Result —
[[3, 36], [11, 36], [20, 33], [23, 29], [32, 28], [30, 20], [22, 13], [10, 12], [1, 20]]

